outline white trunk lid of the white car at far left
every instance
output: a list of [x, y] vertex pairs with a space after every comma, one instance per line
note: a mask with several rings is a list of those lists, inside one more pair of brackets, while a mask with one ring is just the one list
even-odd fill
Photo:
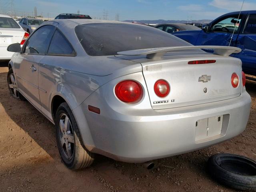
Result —
[[0, 46], [20, 43], [25, 34], [21, 29], [16, 28], [0, 28], [0, 32]]

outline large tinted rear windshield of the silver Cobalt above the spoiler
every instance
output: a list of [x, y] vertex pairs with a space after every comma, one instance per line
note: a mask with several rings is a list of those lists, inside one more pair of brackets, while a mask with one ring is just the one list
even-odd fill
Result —
[[76, 26], [75, 32], [90, 56], [116, 55], [120, 51], [146, 48], [191, 46], [162, 30], [137, 24], [82, 24]]

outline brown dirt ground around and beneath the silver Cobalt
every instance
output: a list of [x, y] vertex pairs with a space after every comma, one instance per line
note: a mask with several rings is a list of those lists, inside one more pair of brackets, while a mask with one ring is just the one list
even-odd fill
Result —
[[97, 156], [90, 168], [68, 170], [56, 147], [54, 126], [29, 102], [8, 92], [7, 62], [0, 63], [0, 191], [13, 192], [229, 192], [206, 172], [208, 157], [230, 152], [256, 159], [256, 83], [247, 81], [252, 97], [246, 130], [230, 141], [195, 152], [142, 164]]

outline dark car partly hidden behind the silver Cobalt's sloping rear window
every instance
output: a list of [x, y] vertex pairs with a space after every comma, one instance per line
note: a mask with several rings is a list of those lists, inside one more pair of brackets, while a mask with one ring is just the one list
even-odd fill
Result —
[[167, 23], [167, 24], [159, 24], [155, 26], [162, 31], [173, 33], [176, 31], [185, 31], [185, 30], [201, 30], [200, 28], [190, 25], [190, 24], [183, 24], [183, 23]]

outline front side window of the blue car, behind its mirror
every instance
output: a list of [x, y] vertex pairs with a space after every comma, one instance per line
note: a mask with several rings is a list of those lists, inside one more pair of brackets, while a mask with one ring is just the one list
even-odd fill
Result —
[[219, 21], [218, 23], [214, 24], [211, 27], [210, 32], [236, 33], [240, 24], [241, 18], [238, 19], [238, 15], [234, 17], [225, 18]]

